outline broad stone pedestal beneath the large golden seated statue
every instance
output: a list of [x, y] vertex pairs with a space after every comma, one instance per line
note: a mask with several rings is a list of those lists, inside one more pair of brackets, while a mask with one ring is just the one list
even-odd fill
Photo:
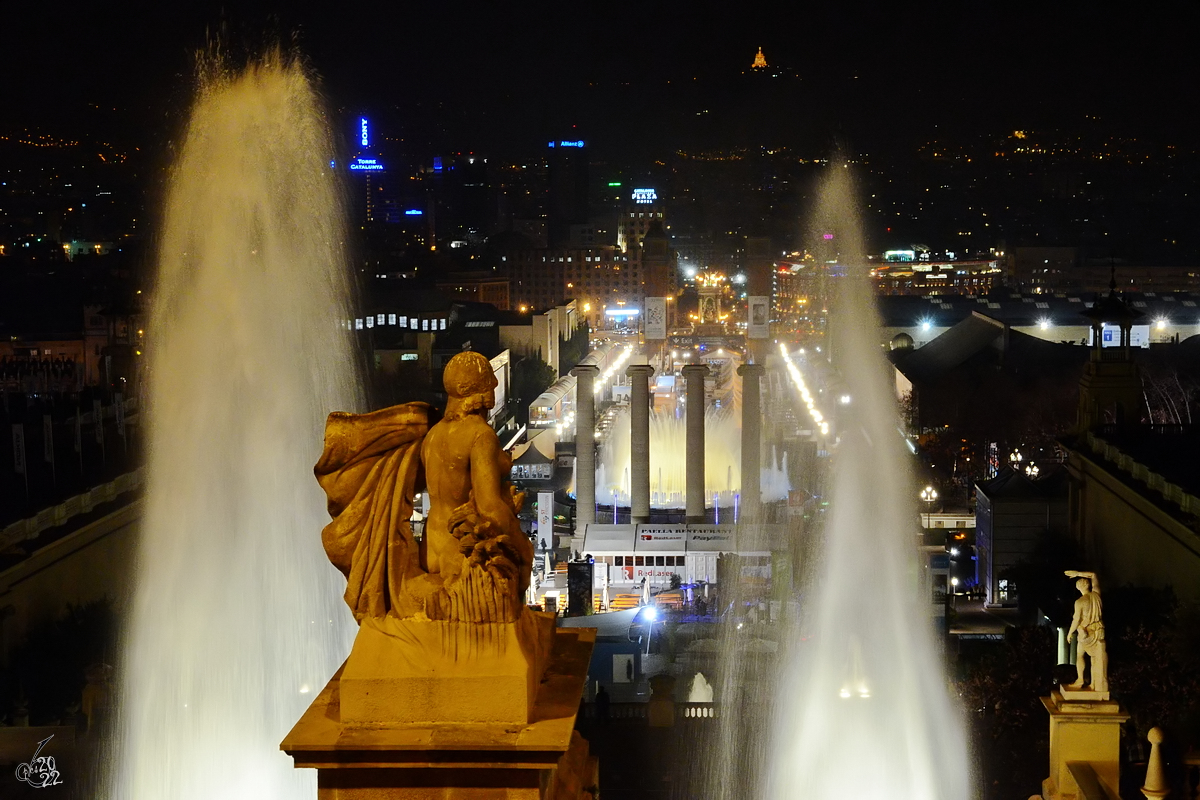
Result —
[[[418, 625], [422, 624], [434, 625]], [[542, 622], [532, 624], [534, 643], [542, 642]], [[532, 684], [533, 703], [522, 720], [504, 720], [522, 703], [502, 694], [520, 694], [527, 684], [512, 680], [511, 674], [491, 676], [487, 664], [491, 658], [493, 667], [515, 667], [515, 652], [526, 652], [528, 642], [522, 637], [529, 632], [512, 630], [511, 637], [500, 639], [482, 636], [476, 656], [467, 657], [461, 650], [438, 655], [440, 643], [449, 640], [433, 627], [419, 631], [409, 646], [436, 656], [439, 666], [432, 678], [410, 652], [401, 656], [395, 651], [386, 630], [360, 633], [350, 660], [308, 706], [281, 748], [298, 769], [317, 770], [318, 800], [590, 800], [596, 789], [596, 763], [574, 728], [595, 631], [551, 628], [545, 662]], [[508, 661], [493, 657], [499, 652], [493, 645], [502, 640]], [[394, 681], [408, 686], [386, 690], [395, 698], [394, 705], [378, 694], [371, 699], [372, 692], [379, 691], [371, 681], [385, 681], [386, 675], [361, 682], [364, 674], [391, 656], [403, 661], [390, 664], [391, 674], [398, 669], [408, 675]], [[444, 669], [448, 660], [455, 664], [449, 669], [452, 675]], [[355, 661], [359, 663], [352, 670]], [[355, 674], [348, 679], [348, 672]], [[352, 694], [356, 699], [348, 705]], [[400, 708], [401, 703], [409, 705]], [[455, 718], [416, 721], [434, 714]], [[391, 720], [376, 721], [385, 716]]]

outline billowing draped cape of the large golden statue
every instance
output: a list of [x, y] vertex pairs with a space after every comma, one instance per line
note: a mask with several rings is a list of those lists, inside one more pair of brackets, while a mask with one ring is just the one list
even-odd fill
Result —
[[409, 518], [428, 428], [425, 403], [338, 411], [325, 422], [325, 450], [313, 471], [332, 522], [320, 537], [346, 576], [346, 602], [360, 622], [398, 609], [403, 582], [424, 572]]

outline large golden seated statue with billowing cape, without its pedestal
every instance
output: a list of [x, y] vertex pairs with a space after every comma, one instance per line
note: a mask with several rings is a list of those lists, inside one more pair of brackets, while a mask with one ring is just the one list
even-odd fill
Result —
[[[346, 575], [346, 602], [366, 618], [511, 622], [523, 609], [533, 545], [509, 483], [511, 458], [487, 422], [496, 377], [479, 353], [445, 367], [449, 401], [371, 414], [329, 415], [317, 481], [332, 522], [322, 531]], [[416, 492], [430, 493], [425, 536], [409, 523]]]

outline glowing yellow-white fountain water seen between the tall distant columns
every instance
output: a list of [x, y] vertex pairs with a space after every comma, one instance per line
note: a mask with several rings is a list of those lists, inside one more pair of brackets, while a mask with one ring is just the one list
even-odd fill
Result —
[[[685, 507], [688, 477], [688, 421], [673, 414], [650, 414], [650, 506]], [[601, 445], [596, 467], [596, 503], [628, 506], [631, 452], [629, 409], [622, 409]], [[787, 453], [770, 463], [760, 476], [763, 503], [786, 500]], [[742, 491], [742, 426], [732, 410], [709, 409], [704, 414], [704, 505], [733, 507]], [[731, 521], [732, 522], [732, 521]]]

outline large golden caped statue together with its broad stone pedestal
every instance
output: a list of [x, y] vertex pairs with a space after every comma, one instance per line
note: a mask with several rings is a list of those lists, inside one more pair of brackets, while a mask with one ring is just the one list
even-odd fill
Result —
[[322, 541], [359, 631], [281, 747], [318, 771], [318, 800], [590, 800], [575, 714], [595, 631], [522, 603], [533, 546], [487, 423], [491, 363], [460, 353], [444, 384], [440, 420], [407, 403], [325, 423]]

